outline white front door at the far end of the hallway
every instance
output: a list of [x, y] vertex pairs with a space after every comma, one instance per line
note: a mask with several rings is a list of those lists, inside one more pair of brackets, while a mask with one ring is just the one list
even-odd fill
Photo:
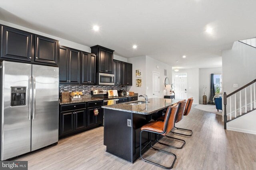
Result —
[[175, 99], [188, 99], [187, 77], [176, 77], [174, 79]]

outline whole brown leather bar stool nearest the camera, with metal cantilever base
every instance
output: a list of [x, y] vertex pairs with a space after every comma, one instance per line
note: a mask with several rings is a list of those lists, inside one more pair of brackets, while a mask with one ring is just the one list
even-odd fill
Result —
[[[151, 144], [151, 141], [152, 141], [151, 133], [160, 134], [160, 135], [168, 134], [171, 131], [171, 129], [174, 127], [174, 119], [175, 119], [175, 116], [176, 116], [177, 109], [178, 109], [178, 104], [174, 104], [173, 106], [169, 106], [167, 111], [166, 111], [166, 117], [164, 119], [164, 122], [162, 122], [162, 121], [151, 121], [148, 124], [141, 127], [141, 131], [140, 131], [140, 157], [145, 162], [149, 162], [151, 164], [154, 164], [154, 165], [160, 166], [162, 168], [166, 168], [166, 169], [171, 169], [174, 166], [174, 163], [177, 159], [176, 155], [171, 153], [171, 152], [167, 152], [165, 150], [154, 148]], [[149, 132], [150, 141], [143, 148], [141, 148], [141, 137], [142, 137], [142, 132], [144, 132], [144, 131]], [[163, 165], [157, 164], [155, 162], [152, 162], [150, 160], [144, 159], [142, 157], [141, 151], [146, 146], [148, 146], [149, 144], [150, 144], [150, 147], [154, 150], [158, 150], [158, 151], [173, 155], [174, 156], [174, 161], [172, 162], [172, 165], [170, 167], [167, 167], [167, 166], [163, 166]]]

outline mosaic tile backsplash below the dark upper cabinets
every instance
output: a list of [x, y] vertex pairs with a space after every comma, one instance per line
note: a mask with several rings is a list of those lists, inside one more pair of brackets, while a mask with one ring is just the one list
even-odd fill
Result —
[[69, 84], [60, 84], [59, 91], [60, 92], [74, 92], [74, 91], [80, 91], [83, 92], [84, 95], [91, 94], [91, 90], [124, 90], [127, 91], [127, 86], [102, 86], [102, 85], [69, 85]]

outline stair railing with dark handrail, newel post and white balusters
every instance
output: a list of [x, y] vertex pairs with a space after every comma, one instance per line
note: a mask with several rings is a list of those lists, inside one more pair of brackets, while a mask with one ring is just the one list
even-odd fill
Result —
[[230, 94], [224, 92], [224, 129], [229, 121], [256, 110], [255, 82], [256, 79]]

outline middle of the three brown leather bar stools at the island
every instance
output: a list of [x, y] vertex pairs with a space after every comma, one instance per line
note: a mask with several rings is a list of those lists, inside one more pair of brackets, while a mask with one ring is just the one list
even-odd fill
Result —
[[[185, 107], [186, 107], [186, 100], [181, 100], [179, 101], [178, 103], [178, 110], [177, 110], [177, 113], [176, 113], [176, 116], [175, 116], [175, 123], [176, 122], [179, 122], [180, 120], [182, 120], [183, 118], [183, 113], [184, 113], [184, 110], [185, 110]], [[157, 119], [158, 121], [164, 121], [164, 118], [165, 118], [166, 115], [163, 115], [162, 117], [160, 117], [159, 119]], [[174, 127], [175, 127], [175, 123], [174, 123]], [[172, 132], [172, 131], [171, 131]], [[173, 132], [172, 132], [173, 133]], [[168, 138], [172, 138], [172, 139], [176, 139], [178, 141], [183, 141], [183, 144], [181, 147], [174, 147], [172, 145], [168, 145], [168, 144], [165, 144], [165, 143], [161, 143], [158, 138], [156, 138], [157, 142], [162, 144], [162, 145], [166, 145], [168, 147], [172, 147], [172, 148], [175, 148], [175, 149], [182, 149], [184, 147], [184, 145], [186, 144], [186, 141], [182, 140], [182, 139], [178, 139], [178, 138], [175, 138], [175, 137], [170, 137], [168, 135], [165, 135], [166, 137]]]

